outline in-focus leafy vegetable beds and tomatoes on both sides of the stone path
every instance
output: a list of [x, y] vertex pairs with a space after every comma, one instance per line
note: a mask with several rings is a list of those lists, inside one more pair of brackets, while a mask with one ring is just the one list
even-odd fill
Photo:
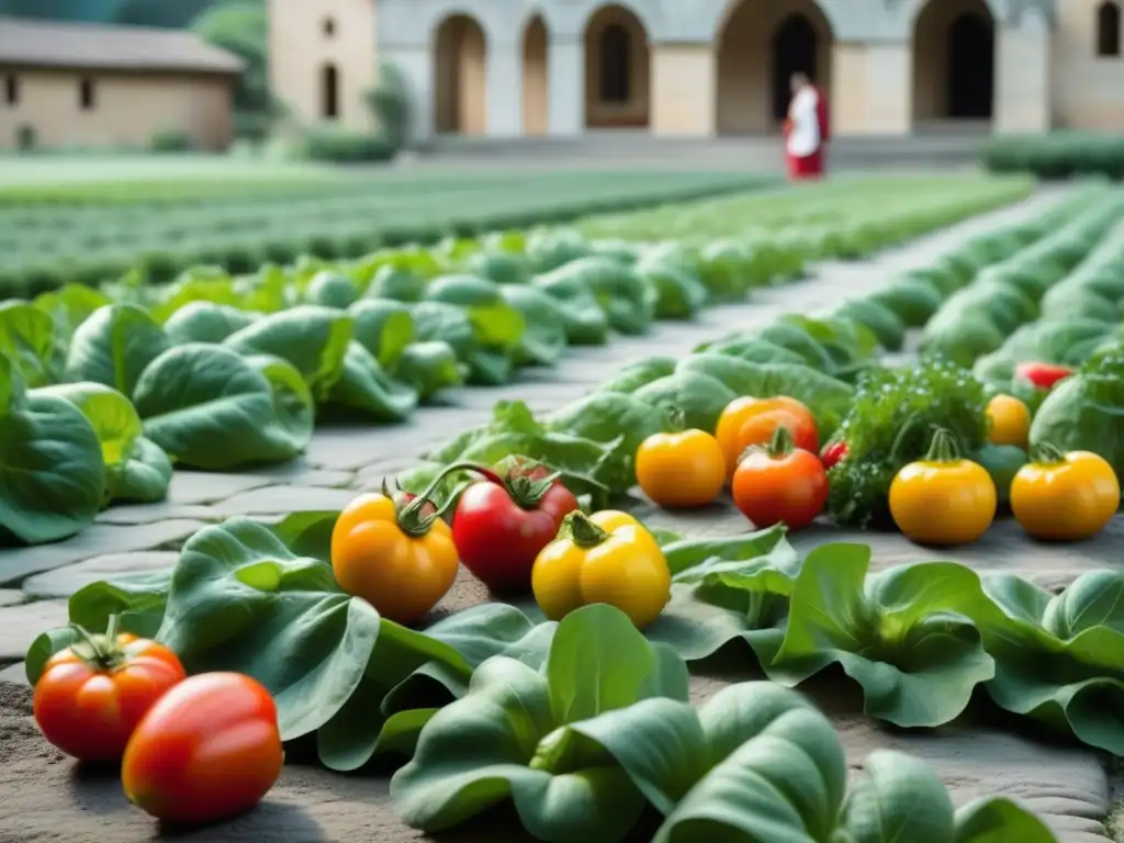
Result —
[[[337, 418], [408, 424], [445, 390], [1028, 191], [839, 182], [8, 302], [0, 534], [74, 535], [160, 499], [173, 466], [291, 460]], [[390, 764], [399, 816], [430, 833], [506, 805], [546, 841], [1055, 841], [1006, 797], [954, 809], [899, 752], [849, 787], [834, 727], [794, 689], [841, 669], [868, 717], [907, 728], [986, 698], [1122, 755], [1124, 574], [1051, 593], [952, 561], [872, 572], [863, 544], [789, 537], [826, 520], [957, 546], [1007, 510], [1035, 538], [1102, 531], [1124, 471], [1122, 232], [1120, 192], [1082, 187], [871, 294], [641, 361], [540, 417], [500, 402], [342, 513], [207, 526], [174, 570], [71, 597], [72, 626], [27, 654], [39, 726], [78, 758], [124, 756], [130, 800], [169, 821], [252, 807], [283, 744], [338, 772]], [[645, 526], [644, 499], [725, 501], [746, 532]], [[462, 566], [492, 599], [435, 619]], [[768, 681], [692, 704], [719, 653]], [[148, 689], [121, 679], [132, 701], [93, 746], [67, 697], [123, 664]], [[218, 700], [217, 719], [182, 714]], [[208, 729], [253, 736], [207, 756], [242, 764], [237, 786], [167, 761], [199, 762]]]

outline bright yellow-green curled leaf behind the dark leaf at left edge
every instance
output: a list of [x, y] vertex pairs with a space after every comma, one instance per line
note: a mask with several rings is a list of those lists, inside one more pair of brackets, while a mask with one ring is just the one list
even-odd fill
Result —
[[172, 463], [155, 443], [145, 439], [133, 402], [101, 383], [63, 383], [33, 395], [64, 398], [87, 417], [101, 442], [106, 464], [106, 500], [151, 504], [167, 493]]

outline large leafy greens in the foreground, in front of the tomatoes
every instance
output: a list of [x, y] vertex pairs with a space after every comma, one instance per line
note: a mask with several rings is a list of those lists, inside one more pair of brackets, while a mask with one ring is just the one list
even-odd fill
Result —
[[[826, 545], [801, 559], [772, 528], [665, 543], [674, 595], [643, 632], [604, 605], [555, 623], [505, 604], [415, 631], [335, 583], [323, 561], [334, 520], [206, 527], [170, 573], [76, 592], [71, 619], [99, 628], [118, 614], [191, 673], [255, 677], [277, 699], [283, 738], [312, 740], [330, 769], [405, 760], [391, 796], [426, 832], [509, 804], [550, 841], [622, 840], [646, 812], [662, 817], [660, 841], [1055, 840], [1005, 798], [953, 810], [933, 771], [900, 753], [871, 755], [847, 794], [830, 722], [782, 687], [833, 663], [863, 689], [869, 714], [899, 725], [945, 723], [982, 685], [1094, 745], [1122, 734], [1117, 707], [1094, 701], [1120, 685], [1120, 619], [1105, 595], [1124, 578], [1113, 572], [1059, 597], [1017, 578], [981, 582], [951, 562], [868, 574], [869, 549]], [[70, 636], [33, 644], [29, 679]], [[691, 706], [687, 663], [727, 645], [755, 655], [773, 682]]]

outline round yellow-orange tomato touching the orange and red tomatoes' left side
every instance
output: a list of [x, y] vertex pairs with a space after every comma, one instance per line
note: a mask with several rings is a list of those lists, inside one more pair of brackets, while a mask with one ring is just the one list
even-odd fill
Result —
[[636, 482], [661, 507], [700, 507], [722, 493], [726, 459], [705, 430], [658, 433], [636, 450]]

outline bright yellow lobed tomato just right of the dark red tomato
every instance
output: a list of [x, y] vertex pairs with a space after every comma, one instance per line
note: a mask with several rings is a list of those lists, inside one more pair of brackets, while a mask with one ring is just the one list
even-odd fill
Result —
[[655, 538], [627, 513], [575, 511], [535, 560], [531, 588], [552, 620], [604, 602], [644, 627], [671, 599], [671, 572]]

